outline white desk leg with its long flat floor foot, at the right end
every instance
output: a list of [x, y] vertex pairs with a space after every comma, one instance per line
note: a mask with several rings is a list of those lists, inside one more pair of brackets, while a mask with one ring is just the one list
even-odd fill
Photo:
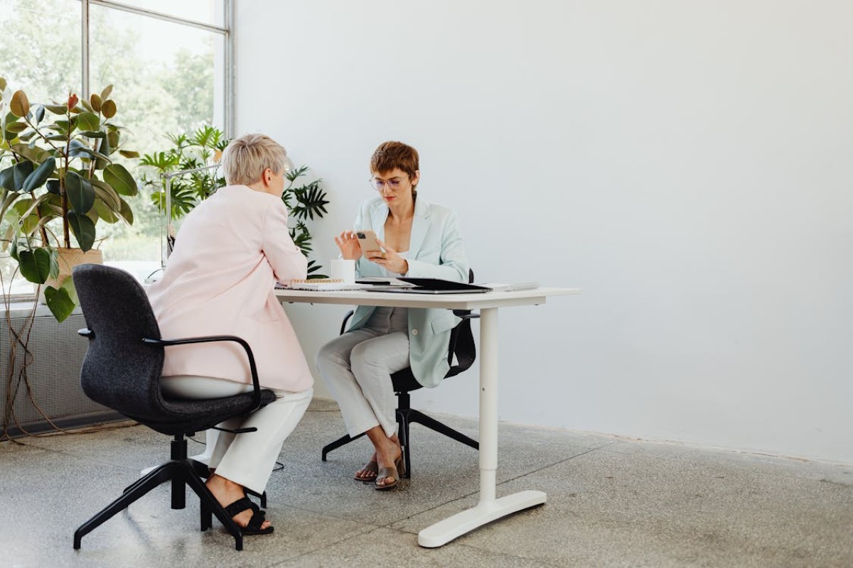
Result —
[[544, 491], [519, 491], [496, 499], [497, 350], [497, 308], [484, 308], [480, 310], [479, 503], [419, 532], [422, 547], [440, 547], [479, 526], [545, 502]]

